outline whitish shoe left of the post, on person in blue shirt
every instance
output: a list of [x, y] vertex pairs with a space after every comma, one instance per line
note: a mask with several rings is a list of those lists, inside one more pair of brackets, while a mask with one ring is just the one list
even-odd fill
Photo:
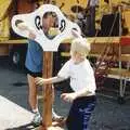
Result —
[[31, 123], [35, 127], [38, 127], [39, 125], [41, 125], [41, 122], [42, 122], [42, 118], [41, 118], [40, 114], [39, 113], [35, 113]]

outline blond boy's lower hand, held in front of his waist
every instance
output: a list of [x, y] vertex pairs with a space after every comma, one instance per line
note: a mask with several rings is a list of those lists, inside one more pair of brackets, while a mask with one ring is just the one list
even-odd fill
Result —
[[77, 95], [76, 95], [75, 92], [73, 92], [73, 93], [63, 93], [63, 94], [61, 94], [61, 98], [64, 101], [66, 101], [68, 103], [72, 103], [77, 98]]

